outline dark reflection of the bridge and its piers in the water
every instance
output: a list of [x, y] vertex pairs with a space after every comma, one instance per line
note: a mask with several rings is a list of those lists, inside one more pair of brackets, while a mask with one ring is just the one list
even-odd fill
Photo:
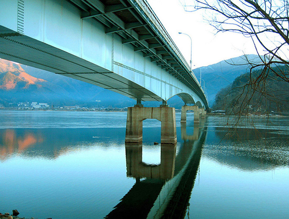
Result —
[[175, 146], [162, 144], [160, 165], [142, 162], [142, 145], [126, 144], [127, 176], [136, 178], [136, 184], [105, 218], [184, 217], [205, 135], [206, 128], [199, 125], [194, 126], [194, 137], [182, 133], [185, 142], [177, 156]]

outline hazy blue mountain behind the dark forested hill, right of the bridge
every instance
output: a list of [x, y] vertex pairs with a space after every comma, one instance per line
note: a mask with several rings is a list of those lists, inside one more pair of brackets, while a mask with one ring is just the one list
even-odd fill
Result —
[[254, 63], [260, 62], [257, 55], [246, 55], [193, 70], [199, 81], [200, 77], [202, 78], [202, 87], [205, 82], [210, 106], [215, 101], [218, 91], [231, 84], [236, 77], [250, 71], [251, 66], [247, 64], [247, 59]]

